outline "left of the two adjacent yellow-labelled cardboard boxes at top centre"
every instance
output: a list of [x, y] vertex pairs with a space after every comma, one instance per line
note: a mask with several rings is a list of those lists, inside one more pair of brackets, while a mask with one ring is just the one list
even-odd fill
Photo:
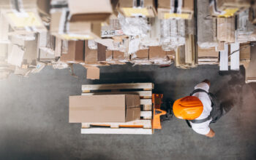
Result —
[[155, 17], [157, 15], [154, 0], [144, 0], [143, 4], [140, 0], [119, 0], [118, 11], [125, 17]]

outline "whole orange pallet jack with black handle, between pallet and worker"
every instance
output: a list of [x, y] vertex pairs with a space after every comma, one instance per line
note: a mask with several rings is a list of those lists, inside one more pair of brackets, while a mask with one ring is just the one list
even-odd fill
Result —
[[[170, 108], [167, 111], [163, 111], [161, 106], [163, 105], [163, 94], [152, 94], [152, 104], [153, 104], [153, 119], [152, 119], [152, 129], [162, 129], [161, 121], [170, 120], [173, 114], [170, 112]], [[164, 119], [161, 117], [164, 116]]]

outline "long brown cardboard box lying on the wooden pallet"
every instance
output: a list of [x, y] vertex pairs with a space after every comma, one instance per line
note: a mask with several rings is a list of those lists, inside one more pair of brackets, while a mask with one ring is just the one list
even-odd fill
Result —
[[139, 95], [69, 96], [69, 123], [127, 122], [138, 119]]

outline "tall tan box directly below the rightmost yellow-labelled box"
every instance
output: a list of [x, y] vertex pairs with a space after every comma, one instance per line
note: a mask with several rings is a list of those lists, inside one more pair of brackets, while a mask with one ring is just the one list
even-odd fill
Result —
[[235, 17], [217, 18], [217, 39], [227, 43], [236, 41]]

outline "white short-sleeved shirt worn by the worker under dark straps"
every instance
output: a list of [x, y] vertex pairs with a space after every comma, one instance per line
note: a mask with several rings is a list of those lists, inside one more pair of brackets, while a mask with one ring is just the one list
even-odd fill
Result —
[[[202, 82], [200, 84], [197, 84], [195, 86], [195, 89], [204, 89], [206, 92], [208, 92], [209, 85], [205, 82]], [[208, 117], [211, 113], [211, 100], [206, 92], [196, 92], [194, 95], [192, 95], [192, 96], [198, 97], [203, 103], [203, 112], [197, 119], [206, 119], [206, 117]], [[211, 119], [200, 124], [193, 124], [192, 122], [190, 122], [190, 124], [192, 129], [195, 132], [201, 135], [206, 135], [208, 134], [208, 132], [210, 132], [210, 127], [209, 127], [210, 122], [211, 122]]]

